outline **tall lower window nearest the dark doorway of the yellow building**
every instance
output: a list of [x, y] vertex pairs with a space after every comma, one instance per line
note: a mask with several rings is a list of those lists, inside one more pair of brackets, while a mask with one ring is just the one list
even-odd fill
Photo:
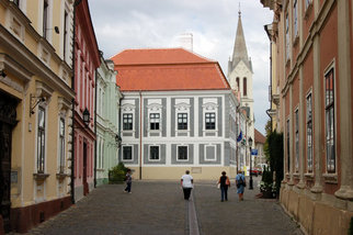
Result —
[[38, 135], [37, 135], [37, 172], [44, 174], [45, 167], [45, 110], [38, 108]]

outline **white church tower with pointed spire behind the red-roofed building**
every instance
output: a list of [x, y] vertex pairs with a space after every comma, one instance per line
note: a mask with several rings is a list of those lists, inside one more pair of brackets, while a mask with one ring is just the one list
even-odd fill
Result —
[[254, 139], [252, 75], [251, 58], [248, 57], [246, 37], [241, 23], [241, 12], [239, 10], [235, 47], [232, 57], [228, 60], [228, 80], [230, 87], [240, 94], [240, 107], [247, 111], [247, 127], [246, 130], [241, 130], [247, 141], [250, 136]]

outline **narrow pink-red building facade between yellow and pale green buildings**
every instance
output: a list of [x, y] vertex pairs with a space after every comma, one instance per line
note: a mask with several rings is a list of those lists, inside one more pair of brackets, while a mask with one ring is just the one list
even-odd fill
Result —
[[[94, 188], [94, 87], [100, 57], [88, 0], [77, 1], [75, 23], [73, 198], [78, 201]], [[90, 113], [88, 122], [84, 112]]]

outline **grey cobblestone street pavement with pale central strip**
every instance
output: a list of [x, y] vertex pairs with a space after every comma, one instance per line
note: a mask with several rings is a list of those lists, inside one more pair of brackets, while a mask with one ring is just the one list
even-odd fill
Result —
[[254, 198], [257, 180], [242, 202], [235, 187], [229, 201], [220, 202], [219, 190], [210, 181], [196, 182], [191, 201], [183, 200], [178, 181], [134, 181], [130, 194], [123, 192], [124, 184], [101, 186], [29, 234], [301, 235], [275, 200]]

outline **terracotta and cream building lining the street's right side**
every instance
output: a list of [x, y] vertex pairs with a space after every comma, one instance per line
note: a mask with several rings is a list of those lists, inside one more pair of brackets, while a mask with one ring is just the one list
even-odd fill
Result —
[[[348, 234], [353, 216], [353, 5], [261, 0], [284, 134], [281, 203], [307, 234]], [[277, 99], [277, 101], [276, 101]]]

